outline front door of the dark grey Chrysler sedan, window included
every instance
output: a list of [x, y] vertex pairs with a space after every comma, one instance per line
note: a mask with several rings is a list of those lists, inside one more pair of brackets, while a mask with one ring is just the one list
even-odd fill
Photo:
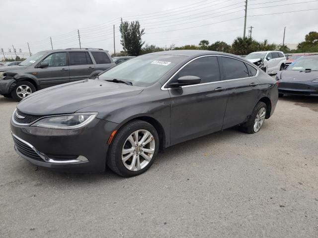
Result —
[[221, 130], [228, 92], [220, 82], [216, 56], [191, 60], [168, 82], [181, 76], [197, 76], [200, 84], [169, 88], [171, 98], [171, 144]]

